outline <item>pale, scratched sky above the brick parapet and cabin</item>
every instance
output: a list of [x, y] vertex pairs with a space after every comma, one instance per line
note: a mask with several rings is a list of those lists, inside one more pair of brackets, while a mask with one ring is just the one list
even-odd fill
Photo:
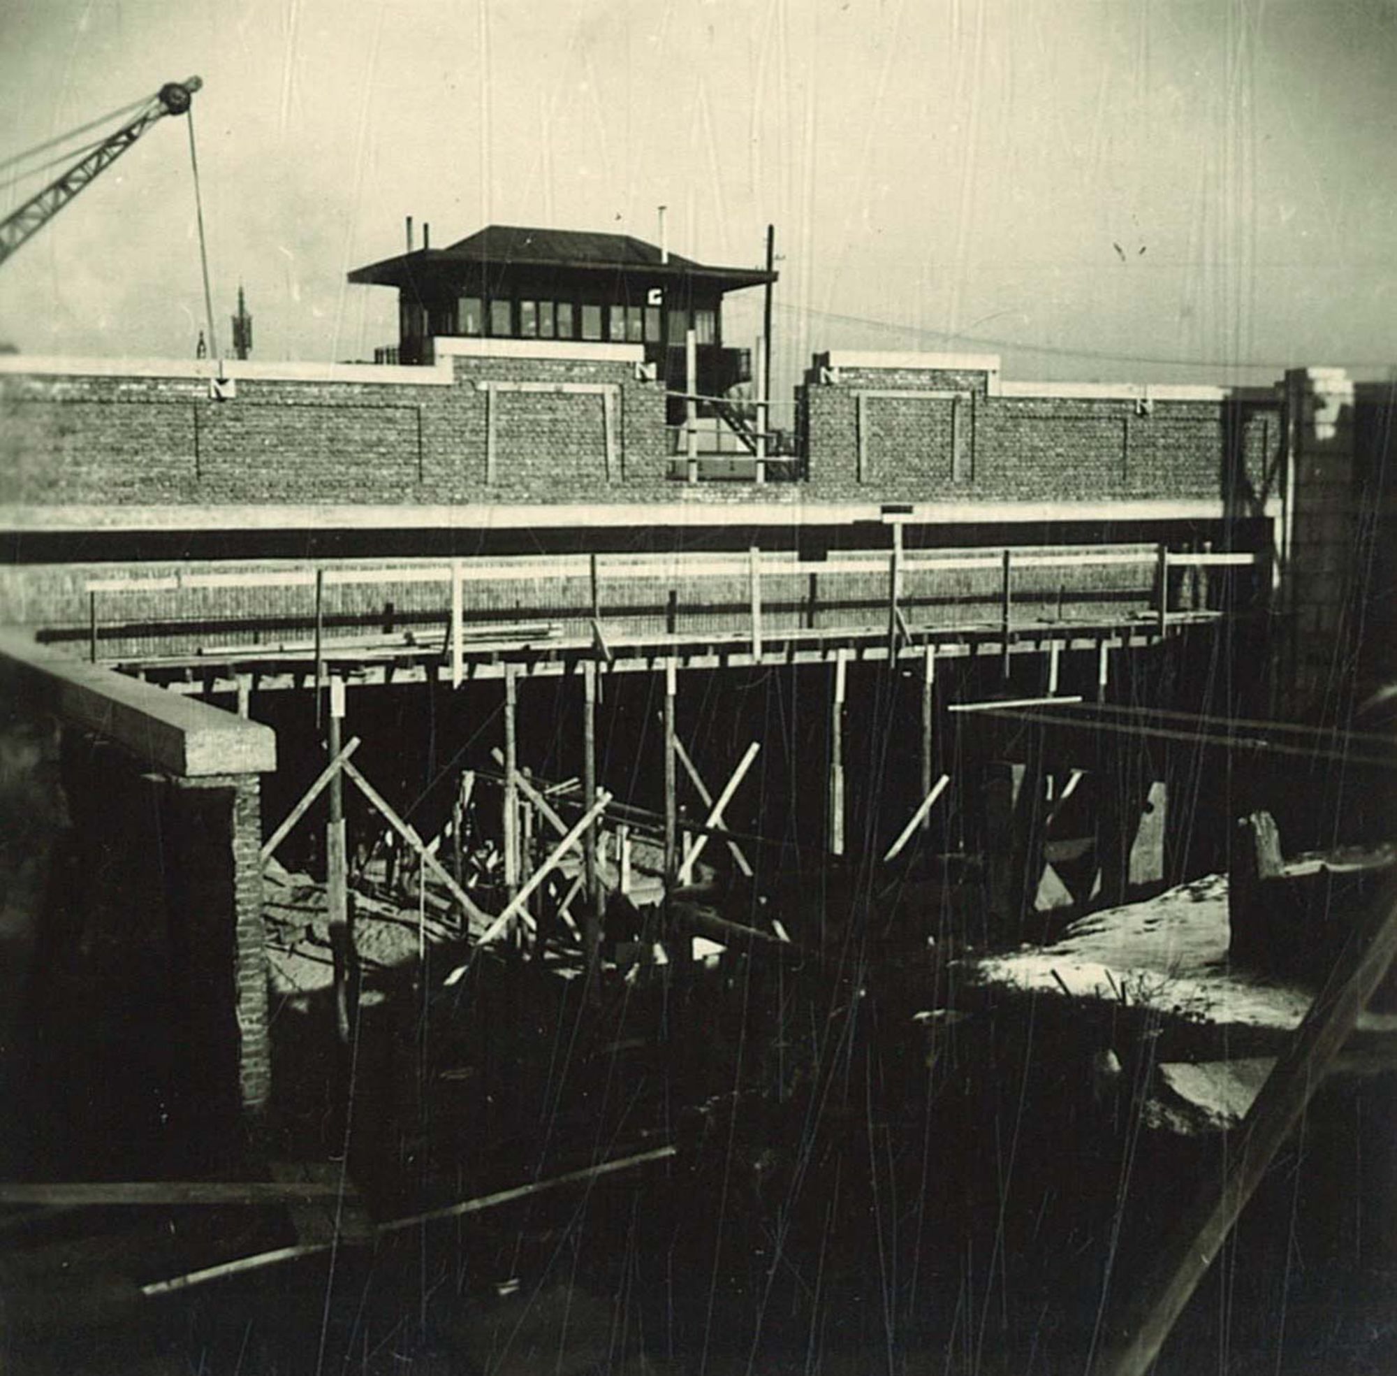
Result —
[[[394, 343], [345, 273], [405, 215], [655, 241], [664, 203], [701, 261], [775, 225], [778, 387], [828, 348], [1397, 364], [1397, 0], [0, 0], [0, 164], [191, 74], [215, 324], [242, 282], [258, 359]], [[183, 120], [0, 264], [28, 354], [191, 357], [204, 315]]]

